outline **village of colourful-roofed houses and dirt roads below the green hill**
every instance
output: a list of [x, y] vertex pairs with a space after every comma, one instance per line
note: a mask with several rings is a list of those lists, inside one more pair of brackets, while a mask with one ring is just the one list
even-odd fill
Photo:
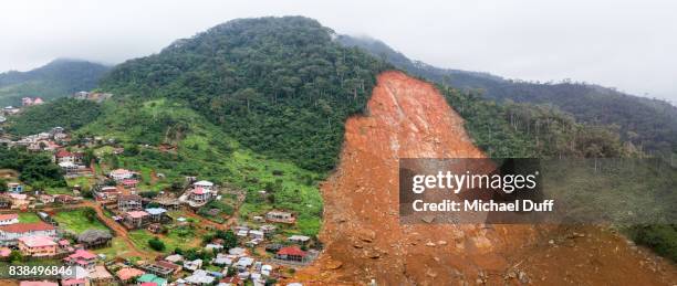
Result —
[[[111, 95], [73, 97], [105, 100]], [[3, 116], [21, 112], [8, 110]], [[157, 186], [163, 173], [107, 166], [104, 156], [125, 152], [113, 139], [74, 141], [67, 130], [53, 127], [6, 136], [0, 146], [49, 156], [66, 181], [56, 188], [30, 184], [17, 170], [0, 170], [0, 265], [82, 269], [75, 277], [21, 285], [272, 285], [321, 251], [314, 236], [293, 231], [296, 213], [291, 210], [240, 215], [246, 192], [228, 182], [196, 173], [167, 188]]]

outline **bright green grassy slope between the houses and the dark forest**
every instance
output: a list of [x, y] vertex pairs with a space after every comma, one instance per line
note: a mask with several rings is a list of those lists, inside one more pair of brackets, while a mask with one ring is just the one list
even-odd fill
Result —
[[[197, 176], [247, 190], [241, 215], [273, 208], [293, 210], [299, 214], [295, 231], [308, 235], [320, 231], [322, 198], [316, 183], [323, 173], [252, 152], [184, 103], [167, 98], [110, 99], [94, 121], [75, 131], [74, 140], [93, 136], [124, 146], [119, 156], [111, 155], [105, 147], [91, 150], [104, 153], [102, 163], [108, 168], [138, 170], [144, 183], [152, 181], [152, 172], [164, 174], [157, 182], [140, 187], [145, 190], [171, 189], [186, 176]], [[265, 200], [259, 195], [260, 190], [268, 191]]]

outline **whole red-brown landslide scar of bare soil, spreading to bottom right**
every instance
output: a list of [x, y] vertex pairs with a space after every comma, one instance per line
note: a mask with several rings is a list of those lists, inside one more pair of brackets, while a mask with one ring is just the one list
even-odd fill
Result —
[[[325, 248], [296, 273], [306, 285], [671, 285], [675, 266], [601, 227], [403, 225], [399, 158], [483, 158], [430, 84], [378, 76], [368, 115], [350, 118], [322, 187]], [[552, 242], [551, 242], [552, 240]], [[642, 253], [640, 253], [642, 252]]]

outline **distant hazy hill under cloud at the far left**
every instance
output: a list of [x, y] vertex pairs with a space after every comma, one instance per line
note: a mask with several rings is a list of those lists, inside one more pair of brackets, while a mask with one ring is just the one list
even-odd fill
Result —
[[55, 60], [29, 72], [0, 74], [0, 106], [21, 105], [22, 97], [52, 99], [94, 88], [110, 67], [77, 60]]

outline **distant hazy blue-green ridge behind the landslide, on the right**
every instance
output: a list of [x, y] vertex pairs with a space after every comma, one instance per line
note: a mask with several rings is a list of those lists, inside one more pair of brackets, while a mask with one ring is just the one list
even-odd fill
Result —
[[487, 73], [435, 67], [407, 59], [385, 43], [364, 38], [338, 36], [346, 46], [368, 51], [412, 74], [464, 91], [480, 92], [485, 98], [552, 105], [589, 125], [616, 125], [624, 140], [645, 151], [677, 152], [677, 107], [582, 83], [528, 83], [503, 80]]

